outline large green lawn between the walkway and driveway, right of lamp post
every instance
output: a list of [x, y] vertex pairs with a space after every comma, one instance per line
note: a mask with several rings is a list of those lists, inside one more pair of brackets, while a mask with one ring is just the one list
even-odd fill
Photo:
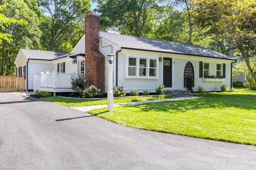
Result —
[[204, 98], [90, 111], [130, 127], [256, 146], [256, 91], [196, 94]]

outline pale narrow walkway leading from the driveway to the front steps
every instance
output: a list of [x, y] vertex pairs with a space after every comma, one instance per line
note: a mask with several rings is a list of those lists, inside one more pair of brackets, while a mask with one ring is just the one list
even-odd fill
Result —
[[[143, 104], [143, 103], [154, 103], [154, 102], [162, 102], [162, 101], [177, 101], [177, 100], [186, 100], [192, 98], [202, 98], [202, 97], [176, 97], [176, 98], [166, 98], [166, 99], [158, 99], [158, 100], [146, 100], [146, 101], [133, 101], [133, 102], [126, 102], [126, 103], [115, 103], [114, 107], [124, 106], [128, 104]], [[88, 112], [89, 110], [93, 109], [100, 109], [107, 107], [107, 104], [103, 105], [94, 105], [94, 106], [83, 106], [83, 107], [71, 107], [76, 110], [80, 110], [82, 112]]]

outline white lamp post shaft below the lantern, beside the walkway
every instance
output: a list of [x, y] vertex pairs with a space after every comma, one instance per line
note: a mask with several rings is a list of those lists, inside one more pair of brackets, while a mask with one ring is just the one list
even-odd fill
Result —
[[108, 93], [107, 93], [107, 110], [113, 111], [113, 67], [114, 64], [108, 64]]

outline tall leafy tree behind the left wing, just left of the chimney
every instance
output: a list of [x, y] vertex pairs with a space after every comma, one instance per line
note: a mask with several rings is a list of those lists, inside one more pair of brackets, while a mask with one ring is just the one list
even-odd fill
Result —
[[43, 49], [69, 52], [74, 46], [72, 39], [84, 34], [84, 17], [91, 9], [90, 0], [38, 0], [38, 2], [46, 14], [40, 26]]

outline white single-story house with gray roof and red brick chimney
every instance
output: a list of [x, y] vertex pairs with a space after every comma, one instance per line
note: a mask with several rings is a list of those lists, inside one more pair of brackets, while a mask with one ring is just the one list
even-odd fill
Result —
[[[223, 84], [231, 88], [231, 65], [236, 60], [227, 55], [200, 46], [102, 32], [95, 12], [88, 13], [85, 21], [85, 35], [70, 53], [46, 51], [51, 55], [34, 54], [33, 60], [26, 60], [21, 49], [15, 64], [27, 66], [27, 90], [35, 88], [33, 76], [38, 74], [40, 90], [72, 92], [70, 76], [85, 73], [88, 85], [107, 92], [109, 53], [114, 54], [113, 85], [124, 86], [128, 93], [133, 88], [154, 92], [159, 84], [164, 84], [165, 90], [184, 90], [188, 76], [195, 79], [194, 91], [198, 86], [207, 91], [220, 91]], [[36, 67], [30, 62], [37, 63]]]

